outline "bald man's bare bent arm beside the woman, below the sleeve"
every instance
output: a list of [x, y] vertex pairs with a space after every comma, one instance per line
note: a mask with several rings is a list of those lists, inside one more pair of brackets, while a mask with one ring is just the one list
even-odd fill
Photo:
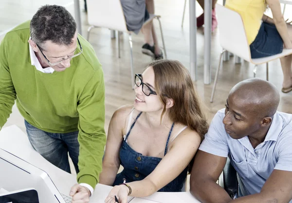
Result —
[[226, 163], [226, 157], [198, 151], [190, 178], [190, 192], [202, 203], [227, 203], [228, 193], [216, 182]]

